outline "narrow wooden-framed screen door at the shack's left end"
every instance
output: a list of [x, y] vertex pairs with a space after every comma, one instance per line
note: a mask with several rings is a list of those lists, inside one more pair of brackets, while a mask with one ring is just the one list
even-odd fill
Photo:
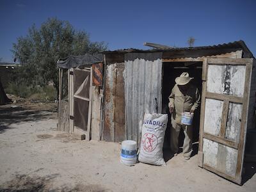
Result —
[[85, 134], [90, 140], [92, 110], [92, 68], [70, 69], [71, 132]]

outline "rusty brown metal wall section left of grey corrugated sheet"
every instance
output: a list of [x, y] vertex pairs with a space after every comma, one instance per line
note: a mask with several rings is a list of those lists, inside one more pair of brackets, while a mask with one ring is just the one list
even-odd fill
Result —
[[104, 132], [106, 141], [123, 141], [125, 138], [124, 63], [106, 68], [104, 93]]

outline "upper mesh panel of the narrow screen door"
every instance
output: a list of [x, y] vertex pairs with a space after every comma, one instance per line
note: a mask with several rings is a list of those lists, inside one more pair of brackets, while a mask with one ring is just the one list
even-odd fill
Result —
[[74, 95], [89, 99], [90, 71], [75, 70]]

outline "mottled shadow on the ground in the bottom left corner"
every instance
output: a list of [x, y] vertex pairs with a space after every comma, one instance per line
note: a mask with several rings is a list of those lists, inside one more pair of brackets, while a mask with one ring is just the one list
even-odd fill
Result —
[[47, 175], [45, 177], [29, 177], [29, 175], [15, 175], [15, 178], [5, 182], [0, 186], [0, 192], [32, 192], [32, 191], [108, 191], [99, 185], [83, 185], [76, 184], [76, 186], [64, 185], [54, 188], [52, 182], [58, 174]]

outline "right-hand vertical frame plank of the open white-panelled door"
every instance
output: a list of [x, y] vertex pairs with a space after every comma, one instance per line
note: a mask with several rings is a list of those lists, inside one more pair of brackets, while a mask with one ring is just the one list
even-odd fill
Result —
[[[245, 59], [244, 59], [245, 60]], [[247, 59], [246, 59], [247, 60]], [[245, 74], [245, 82], [244, 82], [244, 97], [243, 97], [243, 113], [241, 120], [241, 131], [240, 131], [240, 139], [239, 139], [239, 148], [238, 148], [238, 156], [237, 156], [237, 170], [236, 177], [241, 180], [241, 172], [243, 168], [243, 158], [244, 158], [244, 145], [245, 145], [245, 135], [246, 135], [246, 125], [247, 125], [247, 116], [248, 116], [248, 103], [249, 103], [249, 95], [250, 95], [250, 82], [252, 77], [252, 62], [253, 60], [248, 59], [251, 63], [246, 65], [246, 74]]]

